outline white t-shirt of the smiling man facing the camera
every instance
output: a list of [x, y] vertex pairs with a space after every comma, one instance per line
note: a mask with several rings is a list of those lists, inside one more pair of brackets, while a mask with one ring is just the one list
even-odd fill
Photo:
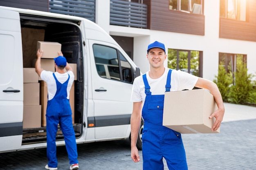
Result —
[[[157, 78], [153, 79], [149, 77], [148, 72], [146, 72], [146, 77], [148, 80], [148, 84], [150, 86], [151, 95], [161, 95], [165, 92], [165, 85], [167, 81], [167, 75], [169, 68], [165, 68], [164, 74]], [[181, 91], [184, 89], [193, 89], [195, 87], [195, 83], [198, 81], [197, 76], [193, 76], [187, 72], [182, 72], [180, 70], [172, 70], [171, 74], [171, 89], [170, 91]], [[140, 102], [144, 103], [146, 98], [145, 94], [145, 85], [142, 78], [142, 75], [135, 78], [132, 85], [132, 95], [131, 102]]]

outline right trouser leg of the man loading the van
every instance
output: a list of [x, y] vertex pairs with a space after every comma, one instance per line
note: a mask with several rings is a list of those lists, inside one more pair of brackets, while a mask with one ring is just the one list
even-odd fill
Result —
[[72, 116], [61, 116], [60, 120], [61, 131], [65, 139], [65, 145], [67, 149], [68, 158], [70, 159], [70, 164], [78, 163], [76, 137], [72, 125]]

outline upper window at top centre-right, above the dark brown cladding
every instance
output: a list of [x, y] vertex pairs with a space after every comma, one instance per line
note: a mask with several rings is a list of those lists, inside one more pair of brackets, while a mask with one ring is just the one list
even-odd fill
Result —
[[169, 0], [169, 10], [202, 14], [203, 0]]

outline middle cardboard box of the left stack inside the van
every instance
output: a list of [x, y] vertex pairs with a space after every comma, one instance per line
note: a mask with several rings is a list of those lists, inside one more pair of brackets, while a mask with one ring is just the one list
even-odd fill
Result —
[[23, 83], [23, 105], [39, 105], [40, 85], [39, 83]]

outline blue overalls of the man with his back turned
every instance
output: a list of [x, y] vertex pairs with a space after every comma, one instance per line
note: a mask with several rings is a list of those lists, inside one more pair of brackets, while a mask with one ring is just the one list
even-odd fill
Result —
[[67, 81], [61, 84], [55, 74], [53, 76], [56, 81], [57, 91], [52, 98], [48, 100], [46, 109], [46, 132], [47, 132], [47, 158], [48, 166], [55, 168], [58, 166], [56, 157], [56, 133], [58, 131], [58, 124], [60, 124], [61, 131], [65, 139], [67, 155], [70, 164], [78, 163], [76, 137], [72, 125], [72, 111], [69, 99], [67, 99], [67, 84], [70, 79], [68, 75]]

